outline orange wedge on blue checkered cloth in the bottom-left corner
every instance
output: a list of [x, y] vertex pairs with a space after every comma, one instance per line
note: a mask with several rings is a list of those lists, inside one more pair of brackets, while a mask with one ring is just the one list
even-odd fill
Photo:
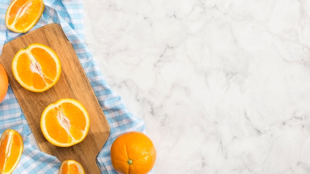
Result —
[[21, 135], [11, 129], [5, 130], [0, 139], [0, 174], [11, 174], [23, 152]]

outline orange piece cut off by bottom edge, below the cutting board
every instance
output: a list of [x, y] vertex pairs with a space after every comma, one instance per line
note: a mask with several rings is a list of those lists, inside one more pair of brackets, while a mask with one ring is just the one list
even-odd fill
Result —
[[58, 174], [85, 174], [83, 166], [75, 160], [65, 160], [61, 163]]

